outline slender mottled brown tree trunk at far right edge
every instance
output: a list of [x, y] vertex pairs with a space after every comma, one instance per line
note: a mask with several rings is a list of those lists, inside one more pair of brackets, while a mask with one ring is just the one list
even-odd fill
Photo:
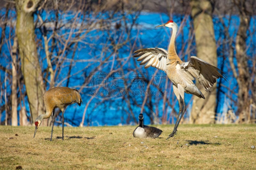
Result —
[[246, 10], [244, 0], [234, 0], [238, 10], [240, 25], [236, 35], [236, 60], [238, 78], [236, 78], [239, 90], [238, 90], [238, 114], [239, 122], [250, 122], [250, 105], [251, 98], [249, 97], [249, 86], [252, 81], [249, 74], [248, 57], [246, 56], [246, 38], [247, 30], [250, 25], [250, 13]]

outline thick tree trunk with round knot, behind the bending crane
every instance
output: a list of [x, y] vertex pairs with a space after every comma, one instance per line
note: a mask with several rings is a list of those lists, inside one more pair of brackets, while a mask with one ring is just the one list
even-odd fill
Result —
[[44, 113], [44, 84], [39, 64], [33, 12], [40, 0], [16, 0], [19, 52], [32, 120]]

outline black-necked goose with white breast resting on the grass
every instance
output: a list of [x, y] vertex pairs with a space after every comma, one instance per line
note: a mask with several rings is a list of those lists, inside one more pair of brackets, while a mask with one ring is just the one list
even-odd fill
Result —
[[133, 131], [133, 137], [139, 137], [139, 138], [157, 138], [161, 133], [162, 130], [152, 127], [152, 126], [146, 126], [143, 123], [143, 114], [139, 115], [139, 126]]

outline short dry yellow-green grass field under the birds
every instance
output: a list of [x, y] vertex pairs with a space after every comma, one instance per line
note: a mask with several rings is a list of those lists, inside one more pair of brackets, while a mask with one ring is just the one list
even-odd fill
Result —
[[160, 138], [134, 138], [135, 126], [0, 126], [0, 169], [256, 169], [256, 125], [157, 125]]

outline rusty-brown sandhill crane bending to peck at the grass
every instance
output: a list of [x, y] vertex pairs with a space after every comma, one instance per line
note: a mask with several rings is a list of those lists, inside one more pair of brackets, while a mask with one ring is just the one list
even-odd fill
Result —
[[[77, 103], [79, 106], [81, 106], [82, 98], [76, 89], [71, 89], [68, 87], [55, 87], [46, 91], [43, 95], [43, 99], [44, 99], [44, 105], [46, 108], [46, 114], [39, 115], [36, 118], [35, 120], [36, 129], [35, 129], [34, 137], [36, 135], [36, 130], [42, 123], [43, 119], [47, 119], [51, 115], [53, 117], [52, 119], [52, 131], [53, 131], [53, 125], [55, 122], [54, 110], [56, 107], [59, 107], [62, 112], [62, 140], [63, 140], [64, 108], [73, 103]], [[51, 133], [50, 141], [52, 141], [52, 133]]]

